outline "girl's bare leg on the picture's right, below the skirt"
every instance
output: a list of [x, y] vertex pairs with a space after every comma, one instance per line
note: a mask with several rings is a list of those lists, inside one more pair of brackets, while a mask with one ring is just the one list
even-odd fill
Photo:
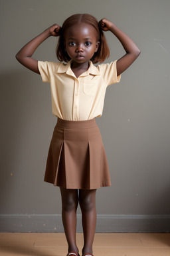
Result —
[[79, 203], [82, 210], [82, 227], [84, 232], [84, 247], [82, 255], [93, 253], [92, 245], [96, 229], [96, 189], [80, 189]]

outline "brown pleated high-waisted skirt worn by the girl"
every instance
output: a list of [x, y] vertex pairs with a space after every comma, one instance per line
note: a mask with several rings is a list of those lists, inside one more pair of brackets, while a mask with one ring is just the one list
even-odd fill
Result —
[[50, 142], [44, 181], [66, 189], [110, 186], [106, 152], [96, 119], [58, 118]]

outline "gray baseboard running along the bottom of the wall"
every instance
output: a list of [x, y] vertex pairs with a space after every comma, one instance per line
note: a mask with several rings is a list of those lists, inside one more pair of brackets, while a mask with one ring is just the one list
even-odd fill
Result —
[[[98, 215], [96, 232], [169, 232], [170, 215]], [[0, 215], [0, 232], [64, 232], [61, 215]], [[82, 232], [78, 215], [77, 232]]]

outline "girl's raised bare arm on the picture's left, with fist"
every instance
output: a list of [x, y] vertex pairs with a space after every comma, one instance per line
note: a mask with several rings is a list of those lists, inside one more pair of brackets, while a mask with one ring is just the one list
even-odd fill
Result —
[[41, 43], [50, 36], [57, 37], [60, 35], [60, 26], [57, 24], [48, 27], [40, 35], [29, 41], [17, 54], [16, 59], [28, 69], [31, 69], [35, 73], [39, 74], [38, 61], [32, 58], [33, 53], [41, 45]]

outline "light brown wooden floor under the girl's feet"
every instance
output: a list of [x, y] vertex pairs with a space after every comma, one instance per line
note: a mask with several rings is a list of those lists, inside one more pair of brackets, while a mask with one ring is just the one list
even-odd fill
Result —
[[[77, 234], [81, 251], [83, 237]], [[0, 233], [0, 255], [66, 256], [63, 233]], [[96, 233], [94, 256], [169, 256], [170, 234]], [[81, 254], [80, 254], [81, 256]]]

